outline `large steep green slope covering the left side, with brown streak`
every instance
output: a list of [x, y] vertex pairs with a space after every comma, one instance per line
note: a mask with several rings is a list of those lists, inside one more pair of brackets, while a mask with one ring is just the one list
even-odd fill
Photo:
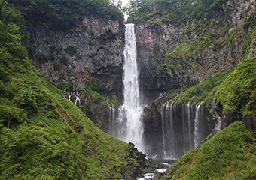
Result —
[[95, 127], [35, 71], [20, 43], [22, 17], [5, 1], [0, 7], [0, 178], [117, 179], [142, 173], [143, 154]]

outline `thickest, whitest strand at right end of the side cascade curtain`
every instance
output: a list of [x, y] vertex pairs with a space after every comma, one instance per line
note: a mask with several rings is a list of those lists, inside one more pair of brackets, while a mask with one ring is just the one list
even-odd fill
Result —
[[199, 124], [200, 124], [200, 107], [203, 104], [203, 101], [198, 103], [196, 106], [196, 117], [194, 121], [194, 148], [197, 148], [200, 142], [200, 130], [199, 130]]

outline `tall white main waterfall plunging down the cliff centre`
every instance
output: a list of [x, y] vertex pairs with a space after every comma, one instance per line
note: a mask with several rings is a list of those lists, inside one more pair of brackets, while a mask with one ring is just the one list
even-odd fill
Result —
[[137, 65], [136, 35], [133, 24], [126, 24], [125, 49], [123, 51], [123, 105], [120, 108], [118, 139], [133, 142], [144, 151], [142, 140], [142, 103], [139, 95], [139, 70]]

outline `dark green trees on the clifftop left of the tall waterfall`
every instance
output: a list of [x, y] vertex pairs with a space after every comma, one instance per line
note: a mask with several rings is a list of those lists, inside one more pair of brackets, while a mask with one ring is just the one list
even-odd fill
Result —
[[123, 13], [109, 0], [8, 0], [29, 22], [46, 23], [53, 29], [75, 26], [84, 16], [123, 20]]

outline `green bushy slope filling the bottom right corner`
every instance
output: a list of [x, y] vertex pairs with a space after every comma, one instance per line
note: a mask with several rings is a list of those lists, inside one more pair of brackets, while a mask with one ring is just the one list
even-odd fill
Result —
[[181, 157], [166, 179], [255, 179], [255, 144], [254, 133], [235, 122]]

